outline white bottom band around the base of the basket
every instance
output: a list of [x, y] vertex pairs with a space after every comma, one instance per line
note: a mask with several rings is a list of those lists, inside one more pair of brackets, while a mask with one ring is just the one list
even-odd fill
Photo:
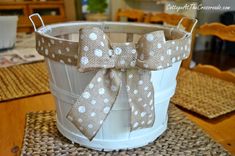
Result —
[[101, 140], [94, 138], [92, 141], [89, 141], [84, 136], [77, 135], [66, 129], [59, 122], [58, 119], [56, 121], [57, 128], [63, 136], [65, 136], [74, 143], [80, 144], [81, 146], [99, 151], [118, 151], [145, 146], [153, 142], [156, 138], [158, 138], [167, 128], [166, 121], [164, 124], [162, 124], [162, 126], [159, 126], [157, 129], [151, 131], [151, 133], [143, 134], [142, 136], [138, 136], [128, 140]]

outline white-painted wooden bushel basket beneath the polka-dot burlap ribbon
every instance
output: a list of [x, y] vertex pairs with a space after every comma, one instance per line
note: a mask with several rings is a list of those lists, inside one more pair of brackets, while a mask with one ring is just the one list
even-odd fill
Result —
[[[130, 24], [130, 23], [94, 23], [94, 22], [75, 22], [65, 24], [55, 24], [39, 28], [35, 31], [38, 35], [42, 35], [46, 38], [58, 40], [58, 41], [70, 41], [75, 42], [72, 38], [59, 39], [61, 32], [67, 27], [70, 34], [77, 32], [78, 26], [109, 26], [114, 28], [117, 32], [122, 31], [146, 31], [149, 29], [171, 29], [163, 26], [148, 25], [148, 24]], [[130, 25], [128, 29], [122, 28], [123, 25]], [[137, 26], [136, 30], [133, 30], [133, 26]], [[105, 27], [107, 29], [107, 27]], [[54, 34], [57, 34], [56, 37]], [[181, 31], [181, 33], [185, 33]], [[52, 35], [52, 36], [51, 36]], [[61, 36], [66, 36], [65, 33]], [[68, 37], [68, 36], [67, 36]], [[71, 43], [72, 44], [72, 43]], [[50, 45], [52, 46], [52, 45]], [[151, 81], [154, 85], [154, 101], [155, 101], [155, 122], [153, 127], [145, 128], [141, 130], [130, 130], [130, 115], [131, 109], [128, 104], [127, 91], [124, 86], [125, 73], [122, 75], [122, 87], [121, 91], [114, 103], [114, 106], [105, 119], [102, 127], [92, 141], [89, 141], [80, 131], [66, 118], [66, 115], [70, 111], [72, 105], [76, 102], [79, 96], [82, 94], [83, 89], [89, 84], [95, 72], [80, 73], [76, 66], [68, 65], [65, 63], [54, 61], [50, 58], [46, 58], [46, 63], [50, 75], [50, 88], [55, 97], [56, 111], [57, 111], [57, 128], [66, 138], [72, 142], [79, 143], [80, 145], [97, 149], [97, 150], [118, 150], [118, 149], [130, 149], [140, 147], [154, 141], [159, 137], [167, 128], [167, 110], [170, 98], [173, 96], [176, 88], [176, 76], [181, 64], [181, 61], [175, 62], [171, 67], [152, 71]]]

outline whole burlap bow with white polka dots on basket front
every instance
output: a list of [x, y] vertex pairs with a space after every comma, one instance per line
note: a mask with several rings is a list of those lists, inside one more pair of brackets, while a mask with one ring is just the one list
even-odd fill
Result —
[[119, 92], [124, 86], [131, 108], [131, 131], [151, 127], [155, 119], [151, 70], [168, 67], [176, 61], [172, 60], [173, 50], [165, 49], [165, 44], [163, 31], [146, 34], [134, 44], [111, 43], [99, 28], [81, 29], [78, 69], [97, 73], [67, 118], [92, 140], [117, 96], [123, 96]]

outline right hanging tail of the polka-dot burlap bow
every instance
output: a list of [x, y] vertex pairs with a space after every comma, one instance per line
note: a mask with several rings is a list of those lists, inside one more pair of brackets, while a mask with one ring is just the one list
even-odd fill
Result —
[[151, 72], [130, 69], [126, 76], [127, 94], [131, 107], [131, 130], [152, 127], [155, 119], [154, 89]]

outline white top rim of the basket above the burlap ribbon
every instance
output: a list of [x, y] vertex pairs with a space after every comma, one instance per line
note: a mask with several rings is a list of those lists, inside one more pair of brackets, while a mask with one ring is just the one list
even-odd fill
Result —
[[[73, 41], [73, 40], [59, 38], [59, 37], [55, 37], [55, 36], [50, 35], [50, 33], [52, 33], [56, 29], [62, 29], [63, 31], [68, 31], [68, 29], [71, 29], [71, 27], [76, 27], [76, 26], [78, 27], [77, 32], [81, 28], [97, 27], [97, 28], [100, 28], [101, 30], [103, 30], [104, 32], [110, 32], [107, 30], [109, 30], [111, 28], [111, 29], [113, 29], [112, 31], [114, 33], [115, 32], [117, 32], [117, 33], [118, 32], [120, 32], [120, 33], [133, 33], [133, 34], [139, 34], [141, 36], [144, 36], [145, 34], [148, 34], [148, 33], [161, 31], [161, 30], [168, 30], [168, 31], [170, 30], [172, 32], [174, 31], [174, 32], [181, 34], [182, 37], [177, 38], [177, 39], [172, 39], [172, 40], [181, 40], [181, 39], [185, 39], [185, 36], [186, 36], [186, 38], [191, 36], [190, 32], [187, 32], [183, 29], [177, 29], [176, 26], [150, 24], [150, 23], [113, 22], [113, 21], [111, 21], [111, 22], [108, 22], [108, 21], [105, 21], [105, 22], [73, 21], [73, 22], [55, 23], [55, 24], [45, 25], [44, 27], [41, 26], [35, 31], [35, 33], [37, 33], [40, 36], [44, 36], [44, 37], [58, 40], [58, 41], [67, 41], [67, 42], [71, 42], [71, 43], [78, 43], [78, 41]], [[134, 32], [128, 32], [127, 29], [125, 29], [125, 28], [130, 28], [130, 27], [132, 28], [131, 30]], [[120, 28], [122, 28], [122, 29], [120, 29]], [[155, 29], [155, 30], [147, 31], [147, 30], [149, 30], [149, 28]], [[119, 29], [119, 30], [117, 31], [117, 29]], [[137, 30], [135, 30], [135, 29], [137, 29]], [[141, 31], [141, 32], [137, 33], [137, 31]], [[166, 42], [172, 41], [172, 40], [166, 40]]]

